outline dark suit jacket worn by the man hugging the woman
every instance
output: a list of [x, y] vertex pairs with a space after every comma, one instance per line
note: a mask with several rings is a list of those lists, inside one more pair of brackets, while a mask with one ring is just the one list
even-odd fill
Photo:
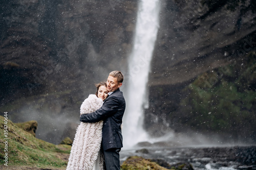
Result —
[[103, 120], [102, 147], [103, 150], [122, 148], [121, 124], [125, 110], [123, 93], [118, 88], [105, 99], [101, 108], [95, 112], [82, 114], [80, 121], [94, 123]]

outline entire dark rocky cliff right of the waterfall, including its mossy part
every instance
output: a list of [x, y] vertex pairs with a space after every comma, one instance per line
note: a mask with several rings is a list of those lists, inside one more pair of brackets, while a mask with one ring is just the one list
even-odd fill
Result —
[[164, 1], [148, 83], [147, 131], [159, 136], [193, 129], [255, 141], [255, 127], [246, 120], [255, 117], [253, 6], [252, 1]]

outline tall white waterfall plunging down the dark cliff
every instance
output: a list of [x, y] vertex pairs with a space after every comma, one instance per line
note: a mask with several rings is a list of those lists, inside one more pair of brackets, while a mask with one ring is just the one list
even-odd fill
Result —
[[129, 75], [126, 77], [128, 82], [123, 126], [124, 148], [148, 140], [143, 129], [143, 110], [148, 101], [146, 86], [159, 27], [159, 12], [159, 0], [140, 1], [134, 46], [129, 58]]

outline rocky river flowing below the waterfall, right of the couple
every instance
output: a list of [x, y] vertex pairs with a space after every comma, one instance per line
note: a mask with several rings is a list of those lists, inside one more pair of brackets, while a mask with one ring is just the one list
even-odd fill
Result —
[[[129, 156], [152, 159], [166, 168], [184, 163], [182, 169], [234, 170], [256, 169], [256, 146], [190, 146], [190, 147], [138, 147], [120, 152], [121, 163]], [[188, 168], [189, 167], [189, 168]]]

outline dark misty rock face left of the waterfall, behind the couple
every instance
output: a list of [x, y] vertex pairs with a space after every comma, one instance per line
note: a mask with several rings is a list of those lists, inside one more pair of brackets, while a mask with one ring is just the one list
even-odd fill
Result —
[[[45, 133], [43, 128], [57, 129], [46, 140], [59, 143], [55, 136], [66, 130], [44, 117], [66, 116], [67, 124], [74, 123], [96, 83], [112, 70], [126, 72], [137, 1], [17, 0], [0, 5], [0, 110], [11, 111], [14, 122], [37, 119], [38, 134]], [[20, 115], [20, 110], [26, 111]]]

